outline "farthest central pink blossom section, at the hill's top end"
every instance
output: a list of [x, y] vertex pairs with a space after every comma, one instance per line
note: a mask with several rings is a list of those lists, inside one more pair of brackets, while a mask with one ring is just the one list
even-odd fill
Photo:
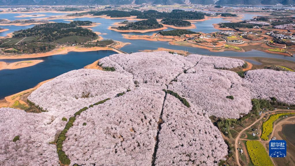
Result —
[[[109, 60], [112, 60], [110, 62]], [[114, 62], [116, 64], [114, 64]], [[111, 66], [119, 69], [121, 67], [133, 75], [134, 80], [144, 83], [167, 84], [179, 73], [189, 69], [195, 64], [186, 61], [179, 55], [172, 55], [166, 51], [151, 53], [115, 54], [108, 58], [102, 58], [103, 66]], [[117, 67], [118, 65], [120, 67]]]

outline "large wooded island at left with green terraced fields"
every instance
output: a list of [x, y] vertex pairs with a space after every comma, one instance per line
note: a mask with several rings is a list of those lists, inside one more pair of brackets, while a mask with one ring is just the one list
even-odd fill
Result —
[[58, 44], [86, 43], [98, 38], [91, 30], [78, 27], [90, 22], [46, 23], [13, 33], [12, 38], [2, 39], [1, 53], [32, 54], [45, 53]]

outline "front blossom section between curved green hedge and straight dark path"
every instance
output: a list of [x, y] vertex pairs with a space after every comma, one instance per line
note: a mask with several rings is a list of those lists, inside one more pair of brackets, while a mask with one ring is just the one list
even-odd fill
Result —
[[164, 96], [139, 88], [84, 111], [64, 142], [71, 163], [150, 166]]

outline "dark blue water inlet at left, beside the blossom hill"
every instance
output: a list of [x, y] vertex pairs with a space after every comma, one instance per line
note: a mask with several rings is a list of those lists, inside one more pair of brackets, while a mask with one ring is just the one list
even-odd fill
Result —
[[0, 99], [34, 87], [36, 84], [71, 70], [81, 69], [94, 61], [115, 54], [114, 51], [69, 52], [64, 55], [26, 59], [0, 59], [7, 63], [42, 59], [44, 62], [21, 69], [0, 70]]

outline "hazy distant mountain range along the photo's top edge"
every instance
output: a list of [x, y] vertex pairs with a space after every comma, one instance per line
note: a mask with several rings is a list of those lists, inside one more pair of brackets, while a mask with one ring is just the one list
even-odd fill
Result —
[[[214, 0], [0, 0], [1, 5], [123, 5], [123, 4], [214, 4]], [[219, 0], [215, 4], [295, 4], [295, 0]]]

